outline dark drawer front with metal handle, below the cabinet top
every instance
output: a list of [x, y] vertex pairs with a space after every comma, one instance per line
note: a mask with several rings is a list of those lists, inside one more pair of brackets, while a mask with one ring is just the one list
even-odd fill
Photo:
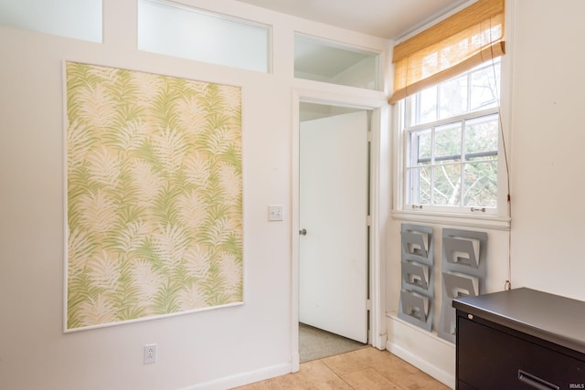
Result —
[[476, 389], [572, 389], [585, 384], [585, 361], [484, 323], [457, 317], [457, 377]]

